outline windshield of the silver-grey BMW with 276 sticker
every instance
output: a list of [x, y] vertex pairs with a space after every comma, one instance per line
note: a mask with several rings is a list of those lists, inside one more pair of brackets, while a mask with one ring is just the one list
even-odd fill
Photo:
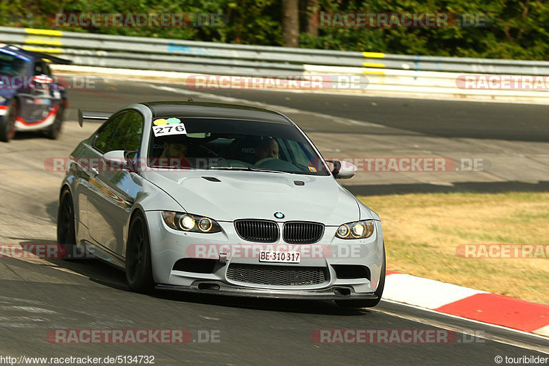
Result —
[[289, 124], [154, 119], [148, 156], [148, 164], [154, 167], [329, 175], [305, 136]]

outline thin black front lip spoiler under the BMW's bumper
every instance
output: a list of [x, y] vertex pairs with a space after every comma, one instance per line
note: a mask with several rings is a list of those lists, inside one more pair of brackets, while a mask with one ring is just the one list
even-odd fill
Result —
[[[213, 288], [219, 286], [219, 288]], [[202, 286], [203, 288], [200, 288]], [[231, 286], [220, 281], [198, 280], [191, 286], [176, 286], [157, 284], [159, 290], [183, 291], [186, 293], [202, 293], [211, 295], [226, 295], [238, 297], [251, 297], [256, 299], [302, 299], [302, 300], [375, 300], [375, 293], [355, 293], [350, 286], [330, 286], [319, 290], [270, 290], [266, 288], [250, 288]], [[349, 292], [347, 294], [336, 292]]]

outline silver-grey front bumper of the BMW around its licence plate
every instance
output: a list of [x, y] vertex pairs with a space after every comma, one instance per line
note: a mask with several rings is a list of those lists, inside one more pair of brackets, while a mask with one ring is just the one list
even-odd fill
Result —
[[[384, 260], [382, 227], [379, 221], [375, 222], [374, 234], [370, 238], [361, 240], [336, 238], [337, 227], [325, 227], [323, 238], [318, 243], [299, 246], [298, 250], [301, 250], [303, 254], [300, 263], [266, 264], [259, 262], [257, 251], [240, 249], [243, 247], [291, 246], [292, 244], [286, 244], [282, 238], [272, 244], [247, 242], [238, 236], [233, 222], [219, 222], [222, 227], [220, 233], [189, 233], [167, 227], [161, 218], [161, 211], [145, 211], [145, 216], [149, 227], [154, 282], [159, 284], [157, 288], [258, 298], [376, 299], [374, 292], [382, 275], [381, 268]], [[213, 249], [231, 247], [235, 249], [231, 251], [233, 254], [246, 254], [240, 256], [230, 254], [225, 261], [215, 255], [213, 257], [209, 255], [208, 246]], [[174, 270], [174, 265], [178, 260], [200, 258], [196, 250], [197, 247], [203, 249], [200, 253], [207, 253], [207, 258], [215, 261], [213, 270], [209, 273]], [[320, 247], [320, 251], [315, 250], [318, 247]], [[251, 255], [247, 253], [251, 253]], [[288, 269], [289, 271], [321, 268], [325, 276], [316, 283], [285, 285], [253, 283], [240, 281], [235, 279], [234, 275], [228, 275], [229, 268], [233, 264], [246, 268], [257, 266], [258, 271], [261, 271], [260, 266], [272, 266], [272, 268]], [[354, 278], [338, 276], [338, 271], [336, 271], [338, 266], [366, 267], [369, 275]]]

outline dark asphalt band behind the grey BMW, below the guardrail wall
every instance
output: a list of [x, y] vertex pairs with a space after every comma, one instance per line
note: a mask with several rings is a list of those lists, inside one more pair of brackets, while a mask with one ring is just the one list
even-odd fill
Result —
[[[95, 82], [97, 80], [97, 82]], [[71, 91], [72, 106], [114, 110], [125, 102], [181, 100], [176, 94], [128, 82], [105, 86], [94, 79], [94, 89]], [[185, 84], [169, 84], [185, 88]], [[326, 113], [339, 117], [375, 122], [390, 127], [376, 133], [423, 133], [441, 137], [471, 137], [519, 141], [549, 141], [547, 115], [549, 105], [464, 102], [456, 100], [421, 100], [412, 98], [375, 98], [364, 95], [331, 95], [323, 93], [292, 93], [283, 91], [189, 89], [190, 97], [200, 93], [241, 98], [302, 111]], [[186, 100], [186, 98], [184, 98]], [[203, 98], [194, 98], [203, 100]], [[212, 99], [213, 100], [213, 99]], [[75, 114], [69, 115], [73, 119]], [[305, 124], [307, 132], [345, 133], [337, 125]], [[358, 126], [353, 133], [372, 133], [368, 126]]]

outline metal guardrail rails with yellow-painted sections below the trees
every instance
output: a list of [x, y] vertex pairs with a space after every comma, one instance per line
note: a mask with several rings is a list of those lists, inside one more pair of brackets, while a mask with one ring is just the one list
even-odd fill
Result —
[[165, 38], [143, 38], [0, 27], [0, 41], [40, 52], [63, 54], [75, 65], [161, 71], [266, 75], [301, 73], [303, 65], [367, 67], [410, 71], [549, 75], [549, 62], [379, 52], [344, 52], [233, 45]]

